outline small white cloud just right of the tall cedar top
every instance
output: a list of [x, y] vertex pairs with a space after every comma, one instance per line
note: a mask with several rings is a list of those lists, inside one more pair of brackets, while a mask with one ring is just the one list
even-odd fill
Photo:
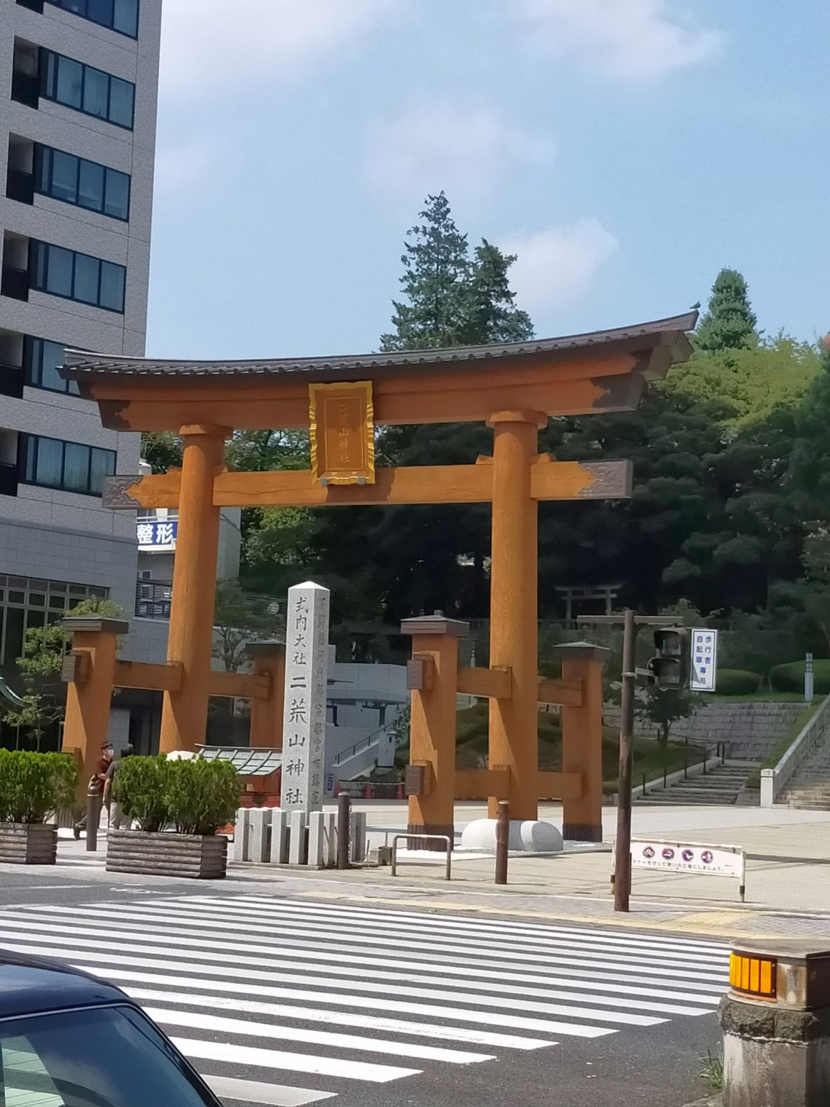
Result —
[[579, 300], [619, 245], [592, 218], [500, 244], [506, 254], [517, 256], [510, 284], [516, 302], [528, 311]]

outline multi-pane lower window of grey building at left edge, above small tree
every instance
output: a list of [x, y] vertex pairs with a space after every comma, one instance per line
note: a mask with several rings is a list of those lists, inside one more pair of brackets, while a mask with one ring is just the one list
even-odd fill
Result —
[[23, 634], [44, 627], [90, 597], [106, 599], [107, 588], [0, 575], [0, 665], [13, 665], [23, 652]]

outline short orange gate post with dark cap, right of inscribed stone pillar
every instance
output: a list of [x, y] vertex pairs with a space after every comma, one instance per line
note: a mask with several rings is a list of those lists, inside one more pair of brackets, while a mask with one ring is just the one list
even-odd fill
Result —
[[[455, 728], [458, 639], [469, 623], [442, 614], [404, 619], [401, 633], [412, 637], [407, 686], [409, 721], [408, 834], [455, 836]], [[424, 842], [427, 849], [438, 842]]]

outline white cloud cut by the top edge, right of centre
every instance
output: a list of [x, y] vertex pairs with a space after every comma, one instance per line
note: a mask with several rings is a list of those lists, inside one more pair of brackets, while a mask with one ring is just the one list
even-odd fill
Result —
[[703, 62], [718, 31], [693, 25], [674, 0], [521, 0], [532, 43], [587, 59], [610, 76], [653, 81]]

